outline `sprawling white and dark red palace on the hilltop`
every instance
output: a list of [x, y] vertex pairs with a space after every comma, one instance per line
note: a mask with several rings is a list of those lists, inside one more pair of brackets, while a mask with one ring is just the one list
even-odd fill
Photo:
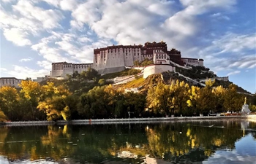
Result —
[[75, 71], [81, 73], [89, 67], [96, 69], [99, 74], [109, 74], [123, 71], [125, 67], [133, 66], [135, 60], [141, 62], [146, 58], [153, 60], [154, 64], [146, 66], [144, 77], [162, 71], [175, 71], [173, 64], [203, 66], [203, 59], [181, 58], [181, 52], [176, 49], [167, 50], [165, 42], [146, 42], [144, 45], [113, 45], [94, 49], [93, 63], [52, 63], [50, 77], [65, 78], [67, 74]]

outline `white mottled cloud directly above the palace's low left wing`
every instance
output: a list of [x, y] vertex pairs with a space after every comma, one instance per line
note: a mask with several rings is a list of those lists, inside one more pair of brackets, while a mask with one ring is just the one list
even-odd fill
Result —
[[31, 46], [45, 60], [37, 62], [39, 66], [50, 69], [50, 63], [67, 61], [71, 63], [92, 63], [94, 48], [106, 47], [111, 42], [108, 39], [92, 43], [86, 35], [78, 36], [71, 33], [56, 33], [41, 39]]

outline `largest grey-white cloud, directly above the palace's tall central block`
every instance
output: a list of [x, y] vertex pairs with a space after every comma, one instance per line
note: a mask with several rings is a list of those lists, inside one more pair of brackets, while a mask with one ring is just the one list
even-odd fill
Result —
[[[72, 11], [72, 28], [89, 26], [100, 39], [114, 39], [118, 44], [142, 44], [164, 40], [172, 47], [186, 50], [191, 37], [201, 33], [197, 15], [213, 9], [232, 9], [236, 1], [88, 0]], [[179, 9], [179, 11], [178, 11]], [[218, 10], [217, 10], [218, 11]], [[185, 43], [185, 44], [184, 44]], [[189, 45], [190, 44], [190, 45]]]

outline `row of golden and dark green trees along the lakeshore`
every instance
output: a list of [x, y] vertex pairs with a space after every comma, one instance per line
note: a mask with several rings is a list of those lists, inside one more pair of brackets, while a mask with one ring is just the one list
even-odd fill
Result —
[[[73, 75], [77, 79], [82, 75]], [[94, 79], [92, 75], [89, 79]], [[88, 80], [88, 78], [86, 79]], [[70, 84], [55, 85], [47, 82], [24, 80], [20, 89], [0, 88], [0, 121], [22, 120], [76, 120], [96, 118], [195, 116], [209, 112], [240, 112], [245, 95], [237, 93], [236, 85], [228, 88], [189, 86], [186, 82], [163, 82], [152, 84], [146, 92], [134, 93], [123, 87], [104, 85], [82, 90], [79, 94], [70, 91]], [[80, 82], [80, 81], [75, 81]], [[75, 83], [76, 84], [76, 83]], [[75, 87], [75, 86], [73, 86]], [[256, 94], [250, 108], [256, 111]]]

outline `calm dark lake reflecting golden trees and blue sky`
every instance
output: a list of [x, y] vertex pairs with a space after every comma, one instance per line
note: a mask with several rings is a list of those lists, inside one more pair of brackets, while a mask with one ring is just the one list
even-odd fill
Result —
[[0, 127], [0, 163], [255, 163], [242, 120]]

